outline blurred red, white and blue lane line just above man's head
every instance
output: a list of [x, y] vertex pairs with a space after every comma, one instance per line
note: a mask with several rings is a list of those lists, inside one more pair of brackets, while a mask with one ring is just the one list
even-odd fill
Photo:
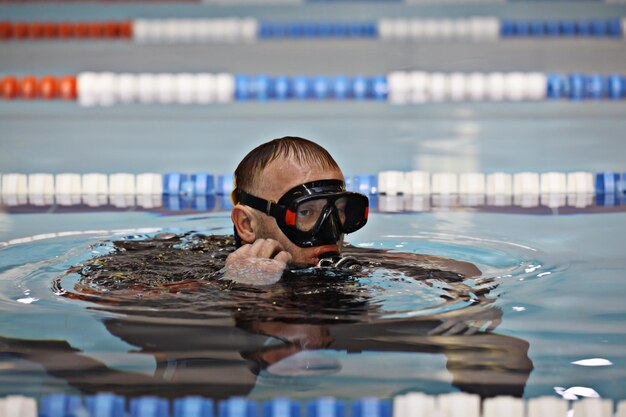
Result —
[[270, 101], [443, 102], [623, 101], [626, 74], [393, 71], [377, 75], [114, 73], [5, 75], [0, 97], [69, 100], [81, 106]]

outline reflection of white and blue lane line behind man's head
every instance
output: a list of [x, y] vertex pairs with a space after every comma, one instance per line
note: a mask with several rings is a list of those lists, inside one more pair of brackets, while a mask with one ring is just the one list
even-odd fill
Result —
[[[619, 195], [544, 194], [523, 196], [404, 196], [369, 197], [370, 213], [408, 214], [473, 212], [508, 215], [580, 215], [626, 212]], [[162, 216], [228, 213], [226, 196], [3, 196], [0, 212], [10, 215], [146, 212]]]

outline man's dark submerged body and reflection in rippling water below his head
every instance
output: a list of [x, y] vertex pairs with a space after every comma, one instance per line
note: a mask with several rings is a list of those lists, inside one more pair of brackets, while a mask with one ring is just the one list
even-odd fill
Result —
[[[289, 394], [290, 378], [340, 373], [337, 352], [393, 352], [445, 355], [452, 384], [464, 391], [522, 395], [528, 344], [492, 332], [501, 311], [488, 298], [490, 280], [466, 278], [478, 275], [473, 265], [348, 247], [361, 268], [291, 270], [275, 285], [250, 287], [221, 279], [233, 243], [193, 233], [101, 243], [108, 254], [55, 280], [57, 294], [113, 313], [106, 329], [154, 357], [151, 375], [66, 341], [0, 337], [0, 350], [85, 393], [226, 398], [250, 393], [264, 372], [286, 377]], [[371, 367], [370, 375], [394, 372]]]

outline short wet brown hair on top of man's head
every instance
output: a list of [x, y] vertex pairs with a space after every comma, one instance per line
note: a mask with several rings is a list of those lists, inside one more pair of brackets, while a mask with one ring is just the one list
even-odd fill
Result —
[[233, 202], [236, 204], [240, 201], [238, 190], [253, 193], [258, 187], [256, 181], [265, 167], [279, 158], [293, 158], [303, 165], [339, 169], [330, 153], [315, 142], [295, 136], [274, 139], [251, 150], [237, 166]]

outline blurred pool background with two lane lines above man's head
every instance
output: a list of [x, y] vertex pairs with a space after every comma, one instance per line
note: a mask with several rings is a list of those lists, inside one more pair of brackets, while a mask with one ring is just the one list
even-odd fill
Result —
[[[347, 173], [619, 170], [624, 16], [608, 1], [3, 2], [0, 77], [16, 84], [3, 84], [0, 172], [231, 173], [286, 135], [320, 142]], [[394, 72], [408, 86], [391, 85]], [[85, 73], [134, 81], [83, 80], [69, 100], [28, 93]], [[203, 73], [232, 77], [225, 102], [177, 102], [171, 77]], [[514, 75], [510, 97], [497, 77], [489, 93], [493, 73]], [[140, 93], [141, 74], [153, 79]], [[544, 77], [538, 95], [519, 74]], [[414, 97], [355, 98], [344, 85], [338, 98], [341, 77], [358, 76]]]

